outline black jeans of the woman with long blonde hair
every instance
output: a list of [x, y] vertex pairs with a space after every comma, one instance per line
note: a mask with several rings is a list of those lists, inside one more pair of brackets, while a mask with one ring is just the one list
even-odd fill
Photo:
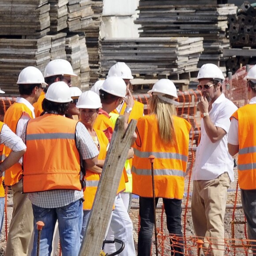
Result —
[[[158, 199], [155, 199], [157, 206]], [[169, 233], [183, 237], [181, 231], [181, 200], [163, 198], [163, 203], [166, 212], [166, 223]], [[151, 255], [151, 243], [154, 229], [154, 209], [153, 198], [139, 197], [139, 217], [140, 230], [138, 237], [138, 256]], [[175, 256], [183, 255], [183, 239], [179, 239], [177, 246], [171, 243], [172, 254]], [[175, 251], [175, 253], [173, 253]]]

